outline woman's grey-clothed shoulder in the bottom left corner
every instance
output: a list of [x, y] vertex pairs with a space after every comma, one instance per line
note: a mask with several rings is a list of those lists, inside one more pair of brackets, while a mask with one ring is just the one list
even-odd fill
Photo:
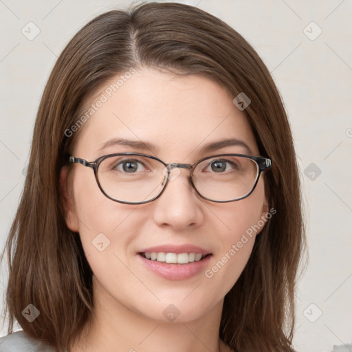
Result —
[[1, 352], [54, 352], [52, 347], [30, 338], [23, 330], [0, 338]]

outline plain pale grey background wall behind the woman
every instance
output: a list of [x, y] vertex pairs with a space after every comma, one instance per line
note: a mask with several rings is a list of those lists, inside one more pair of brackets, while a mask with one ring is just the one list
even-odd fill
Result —
[[[176, 2], [230, 24], [272, 72], [294, 133], [309, 245], [294, 344], [315, 352], [351, 343], [352, 1]], [[36, 110], [57, 56], [90, 19], [129, 3], [0, 0], [1, 250], [23, 188]], [[1, 268], [1, 296], [6, 275]], [[0, 326], [0, 336], [5, 334]]]

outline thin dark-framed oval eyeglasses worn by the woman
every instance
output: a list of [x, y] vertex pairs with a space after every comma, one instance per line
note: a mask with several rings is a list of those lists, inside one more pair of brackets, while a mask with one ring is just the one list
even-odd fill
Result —
[[[168, 181], [181, 173], [179, 168], [190, 170], [190, 184], [203, 199], [219, 203], [238, 201], [253, 192], [261, 173], [272, 165], [267, 157], [243, 154], [212, 155], [192, 165], [166, 164], [140, 153], [109, 154], [94, 162], [70, 156], [69, 163], [93, 168], [102, 193], [127, 204], [148, 203], [160, 197]], [[171, 177], [173, 168], [177, 168], [177, 173]]]

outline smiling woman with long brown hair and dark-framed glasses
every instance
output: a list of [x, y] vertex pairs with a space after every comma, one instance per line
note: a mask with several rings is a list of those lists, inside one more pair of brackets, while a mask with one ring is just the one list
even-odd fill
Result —
[[250, 44], [189, 5], [113, 10], [45, 87], [2, 343], [294, 351], [304, 244], [289, 122]]

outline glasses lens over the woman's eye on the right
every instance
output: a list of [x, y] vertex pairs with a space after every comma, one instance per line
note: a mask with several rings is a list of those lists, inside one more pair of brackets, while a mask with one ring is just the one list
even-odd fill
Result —
[[248, 157], [218, 156], [203, 160], [193, 173], [198, 192], [213, 201], [231, 201], [248, 195], [259, 168]]

